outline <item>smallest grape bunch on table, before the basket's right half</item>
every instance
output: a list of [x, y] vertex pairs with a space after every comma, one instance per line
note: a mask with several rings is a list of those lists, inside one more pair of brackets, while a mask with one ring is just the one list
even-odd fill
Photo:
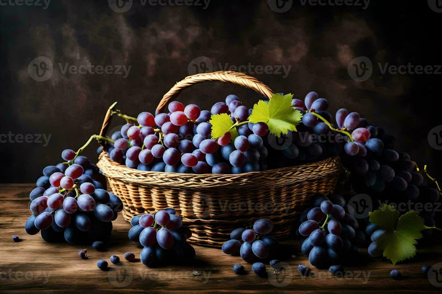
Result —
[[230, 240], [222, 246], [225, 254], [238, 254], [248, 263], [255, 263], [273, 257], [279, 242], [268, 234], [273, 230], [273, 222], [267, 219], [255, 221], [250, 229], [237, 228], [230, 234]]

